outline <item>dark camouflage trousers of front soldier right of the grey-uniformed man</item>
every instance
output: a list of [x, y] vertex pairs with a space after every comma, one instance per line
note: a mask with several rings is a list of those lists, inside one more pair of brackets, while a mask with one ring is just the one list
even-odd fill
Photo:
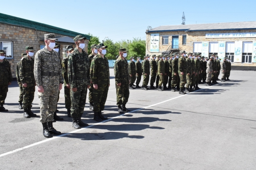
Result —
[[78, 84], [77, 91], [74, 92], [70, 90], [70, 99], [71, 99], [71, 116], [76, 118], [81, 118], [84, 113], [84, 106], [87, 95], [87, 84]]

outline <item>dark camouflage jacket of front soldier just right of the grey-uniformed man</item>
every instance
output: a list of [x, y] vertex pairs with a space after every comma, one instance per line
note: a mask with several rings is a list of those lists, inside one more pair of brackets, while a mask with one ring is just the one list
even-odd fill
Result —
[[88, 54], [82, 50], [82, 54], [77, 48], [68, 56], [68, 81], [71, 88], [77, 85], [90, 84], [90, 61]]

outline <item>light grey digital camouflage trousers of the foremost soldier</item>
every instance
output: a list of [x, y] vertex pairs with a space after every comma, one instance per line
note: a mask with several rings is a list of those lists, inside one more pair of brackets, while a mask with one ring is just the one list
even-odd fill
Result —
[[44, 86], [44, 92], [38, 92], [40, 100], [40, 122], [53, 121], [53, 113], [56, 110], [59, 92], [59, 84], [55, 86]]

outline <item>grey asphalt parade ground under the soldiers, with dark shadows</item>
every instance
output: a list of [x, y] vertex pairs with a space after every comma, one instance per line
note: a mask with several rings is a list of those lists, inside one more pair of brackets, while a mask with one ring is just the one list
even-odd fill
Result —
[[62, 135], [52, 138], [43, 136], [37, 87], [32, 107], [37, 117], [24, 118], [13, 81], [4, 105], [9, 112], [0, 113], [0, 169], [255, 170], [256, 72], [230, 75], [231, 81], [199, 85], [201, 90], [186, 95], [130, 90], [131, 112], [121, 115], [111, 68], [103, 111], [109, 119], [93, 120], [87, 95], [82, 120], [90, 126], [72, 128], [62, 88], [57, 115], [64, 120], [53, 123]]

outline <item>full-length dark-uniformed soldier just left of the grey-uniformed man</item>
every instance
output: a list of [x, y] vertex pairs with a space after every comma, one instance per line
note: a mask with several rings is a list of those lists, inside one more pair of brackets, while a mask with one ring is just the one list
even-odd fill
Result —
[[35, 76], [34, 76], [34, 48], [26, 47], [26, 54], [20, 61], [19, 77], [22, 84], [23, 101], [22, 108], [24, 109], [23, 116], [25, 118], [36, 117], [31, 111], [32, 102], [35, 94]]

